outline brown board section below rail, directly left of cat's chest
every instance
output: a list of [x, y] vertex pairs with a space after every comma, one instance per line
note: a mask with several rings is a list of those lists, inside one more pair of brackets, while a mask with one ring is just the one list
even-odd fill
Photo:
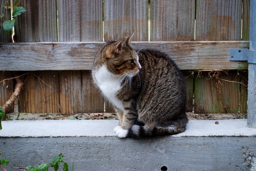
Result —
[[104, 112], [104, 102], [93, 86], [89, 71], [60, 71], [61, 113]]

